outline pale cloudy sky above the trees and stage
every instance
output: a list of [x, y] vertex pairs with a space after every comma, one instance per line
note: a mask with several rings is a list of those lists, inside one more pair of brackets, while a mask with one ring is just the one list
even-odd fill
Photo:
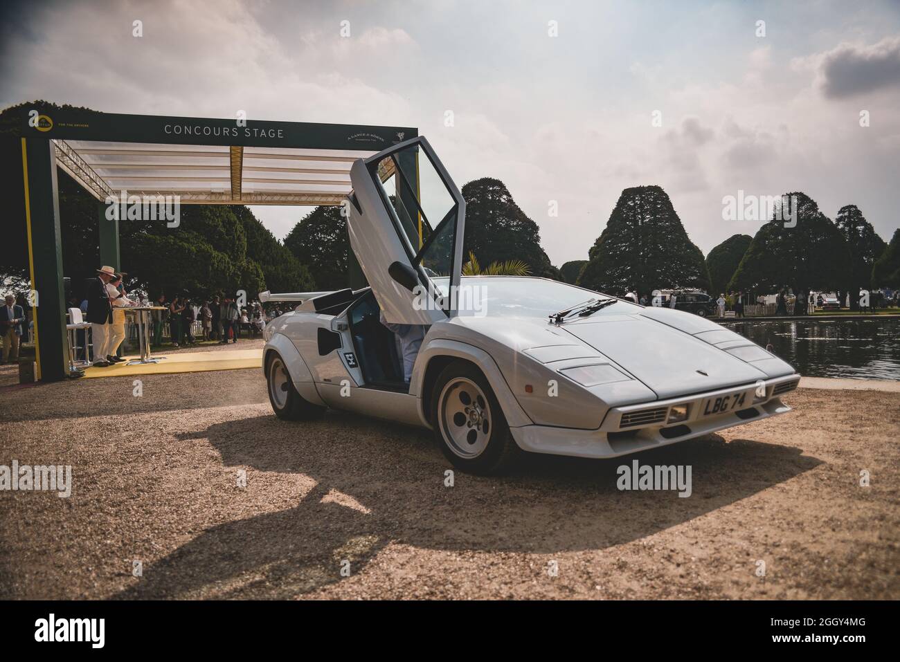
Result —
[[[4, 11], [4, 107], [418, 127], [458, 185], [507, 183], [557, 265], [586, 258], [619, 193], [639, 184], [662, 185], [705, 253], [761, 225], [722, 218], [723, 197], [741, 190], [803, 191], [831, 218], [856, 204], [885, 240], [900, 226], [897, 2], [73, 0]], [[254, 210], [276, 237], [307, 211]]]

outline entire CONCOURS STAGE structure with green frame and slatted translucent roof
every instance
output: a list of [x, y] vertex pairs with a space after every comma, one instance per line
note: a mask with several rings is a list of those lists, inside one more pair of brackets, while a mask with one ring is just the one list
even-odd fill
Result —
[[[128, 221], [108, 219], [106, 209], [123, 191], [177, 195], [181, 204], [340, 205], [350, 192], [350, 166], [357, 158], [419, 135], [411, 127], [123, 115], [40, 103], [20, 112], [16, 134], [22, 142], [30, 276], [37, 294], [39, 380], [68, 374], [57, 167], [97, 200], [97, 267], [119, 270], [119, 224]], [[415, 165], [410, 169], [415, 172]], [[418, 182], [414, 185], [418, 190]], [[417, 228], [406, 229], [419, 241]], [[351, 271], [358, 273], [358, 267]]]

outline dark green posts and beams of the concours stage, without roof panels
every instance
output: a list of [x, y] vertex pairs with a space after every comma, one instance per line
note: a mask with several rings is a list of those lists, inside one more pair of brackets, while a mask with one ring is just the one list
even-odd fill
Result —
[[[292, 121], [259, 121], [214, 118], [125, 115], [76, 108], [59, 108], [40, 103], [20, 109], [18, 130], [14, 136], [22, 142], [25, 223], [31, 287], [34, 303], [34, 337], [37, 379], [53, 381], [68, 375], [66, 301], [62, 273], [62, 241], [59, 230], [57, 167], [73, 174], [73, 164], [58, 164], [59, 145], [66, 140], [98, 142], [152, 143], [158, 145], [202, 145], [232, 148], [327, 149], [377, 152], [404, 139], [415, 138], [419, 130], [411, 127], [325, 124]], [[180, 127], [175, 130], [175, 127]], [[189, 131], [187, 130], [189, 128]], [[177, 131], [177, 132], [176, 132]], [[235, 148], [238, 148], [237, 150]], [[233, 158], [233, 157], [232, 157]], [[232, 160], [232, 163], [234, 161]], [[240, 165], [238, 161], [238, 175]], [[148, 166], [149, 167], [149, 166]], [[415, 172], [415, 169], [413, 169]], [[78, 176], [78, 175], [81, 176]], [[100, 225], [100, 262], [120, 269], [119, 221], [108, 220], [103, 213], [103, 182], [78, 171], [76, 182], [98, 198]], [[232, 175], [233, 181], [233, 175]], [[418, 186], [418, 182], [417, 182]], [[146, 188], [145, 188], [146, 191]], [[191, 200], [196, 204], [339, 204], [337, 195], [320, 201], [259, 202], [237, 197], [218, 200]], [[343, 197], [343, 196], [340, 196]], [[412, 239], [413, 237], [410, 237]], [[418, 241], [419, 237], [415, 237]], [[100, 264], [97, 265], [98, 267]], [[358, 265], [351, 264], [352, 281], [359, 282]]]

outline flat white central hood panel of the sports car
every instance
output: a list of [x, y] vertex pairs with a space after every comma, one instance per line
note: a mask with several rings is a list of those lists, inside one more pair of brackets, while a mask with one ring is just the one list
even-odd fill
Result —
[[725, 389], [769, 376], [697, 335], [644, 315], [597, 315], [559, 328], [617, 362], [661, 399]]

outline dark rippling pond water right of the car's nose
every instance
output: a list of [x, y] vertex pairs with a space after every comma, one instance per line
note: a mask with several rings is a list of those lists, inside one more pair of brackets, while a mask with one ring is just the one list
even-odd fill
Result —
[[900, 318], [727, 324], [807, 377], [900, 380]]

